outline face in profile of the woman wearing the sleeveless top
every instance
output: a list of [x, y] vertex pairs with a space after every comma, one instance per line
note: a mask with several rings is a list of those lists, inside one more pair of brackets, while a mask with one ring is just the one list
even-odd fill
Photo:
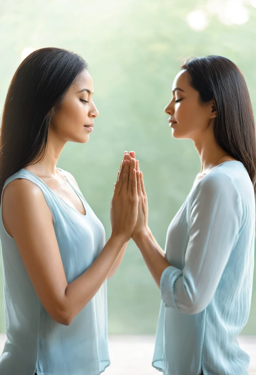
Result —
[[85, 69], [67, 90], [61, 106], [54, 108], [50, 131], [65, 142], [88, 142], [94, 118], [99, 114], [92, 94], [92, 77]]

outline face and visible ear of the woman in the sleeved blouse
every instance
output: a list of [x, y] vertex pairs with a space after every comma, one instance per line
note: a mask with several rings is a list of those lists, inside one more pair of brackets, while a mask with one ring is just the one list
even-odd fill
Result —
[[195, 140], [210, 126], [216, 111], [212, 112], [213, 101], [204, 105], [200, 103], [199, 92], [190, 86], [189, 78], [186, 69], [176, 75], [172, 99], [164, 111], [172, 121], [170, 127], [174, 138]]

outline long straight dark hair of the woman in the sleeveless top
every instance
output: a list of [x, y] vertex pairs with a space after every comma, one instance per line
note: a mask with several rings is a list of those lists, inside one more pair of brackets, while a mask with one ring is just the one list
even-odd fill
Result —
[[[40, 48], [19, 65], [4, 103], [0, 129], [0, 194], [6, 178], [45, 155], [53, 107], [88, 63], [72, 51]], [[37, 160], [37, 161], [39, 161]]]

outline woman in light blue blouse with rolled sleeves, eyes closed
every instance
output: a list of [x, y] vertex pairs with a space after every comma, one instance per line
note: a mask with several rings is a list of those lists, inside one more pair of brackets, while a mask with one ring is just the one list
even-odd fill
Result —
[[250, 357], [237, 335], [248, 320], [252, 298], [252, 104], [240, 69], [220, 56], [186, 62], [172, 93], [165, 108], [172, 135], [192, 139], [201, 171], [170, 223], [165, 251], [147, 225], [141, 173], [132, 238], [162, 299], [152, 365], [165, 375], [245, 375]]

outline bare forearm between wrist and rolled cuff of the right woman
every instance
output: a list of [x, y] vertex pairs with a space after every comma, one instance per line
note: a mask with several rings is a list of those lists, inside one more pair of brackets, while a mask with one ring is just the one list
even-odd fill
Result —
[[156, 285], [160, 289], [160, 279], [162, 272], [167, 267], [171, 266], [171, 264], [161, 254], [161, 251], [159, 251], [158, 247], [155, 245], [154, 241], [146, 230], [140, 235], [132, 237], [132, 239], [134, 240], [138, 249], [140, 249], [147, 268], [149, 269], [149, 272], [155, 280]]

